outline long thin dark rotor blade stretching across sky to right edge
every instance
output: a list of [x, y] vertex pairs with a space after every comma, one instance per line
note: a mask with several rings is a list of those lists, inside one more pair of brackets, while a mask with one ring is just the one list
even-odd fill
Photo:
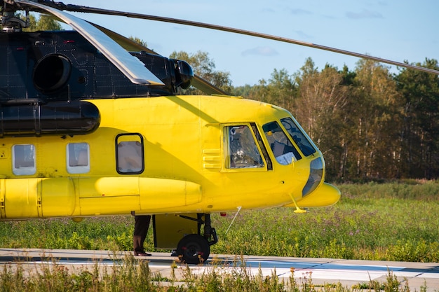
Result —
[[223, 31], [223, 32], [233, 32], [234, 34], [244, 34], [247, 36], [256, 36], [256, 37], [259, 37], [262, 39], [271, 39], [273, 41], [282, 41], [284, 43], [293, 43], [295, 45], [317, 48], [320, 50], [329, 50], [329, 51], [335, 52], [335, 53], [340, 53], [340, 54], [344, 54], [344, 55], [351, 55], [353, 57], [360, 57], [363, 59], [374, 60], [374, 61], [382, 62], [382, 63], [386, 63], [386, 64], [392, 64], [392, 65], [395, 65], [398, 67], [405, 67], [407, 69], [414, 69], [414, 70], [418, 70], [418, 71], [424, 71], [427, 73], [439, 75], [439, 71], [434, 70], [434, 69], [420, 67], [420, 66], [416, 66], [416, 65], [412, 65], [412, 64], [406, 64], [406, 63], [402, 63], [402, 62], [396, 62], [396, 61], [387, 60], [387, 59], [383, 59], [383, 58], [379, 58], [379, 57], [373, 57], [370, 55], [354, 53], [354, 52], [350, 52], [348, 50], [340, 50], [337, 48], [320, 46], [316, 43], [308, 43], [305, 41], [297, 41], [295, 39], [283, 38], [281, 36], [273, 36], [271, 34], [261, 34], [259, 32], [251, 32], [251, 31], [243, 30], [243, 29], [235, 29], [233, 27], [223, 27], [220, 25], [210, 25], [208, 23], [194, 22], [194, 21], [189, 21], [189, 20], [180, 20], [177, 18], [164, 18], [161, 16], [146, 15], [146, 14], [140, 14], [140, 13], [129, 13], [129, 12], [123, 12], [123, 11], [112, 11], [112, 10], [107, 10], [107, 9], [93, 8], [93, 7], [87, 7], [87, 6], [77, 6], [77, 5], [72, 5], [72, 4], [65, 5], [65, 6], [63, 6], [63, 8], [67, 11], [83, 12], [83, 13], [96, 13], [96, 14], [104, 14], [104, 15], [119, 15], [119, 16], [126, 16], [127, 18], [140, 18], [143, 20], [155, 20], [155, 21], [160, 21], [160, 22], [170, 22], [170, 23], [175, 23], [178, 25], [189, 25], [191, 27], [203, 27], [206, 29], [215, 29], [215, 30], [219, 30], [219, 31]]

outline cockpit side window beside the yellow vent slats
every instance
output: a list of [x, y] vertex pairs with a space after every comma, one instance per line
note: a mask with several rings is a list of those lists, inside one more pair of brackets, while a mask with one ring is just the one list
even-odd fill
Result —
[[247, 125], [224, 127], [224, 137], [227, 138], [227, 168], [264, 167], [264, 160], [250, 127]]

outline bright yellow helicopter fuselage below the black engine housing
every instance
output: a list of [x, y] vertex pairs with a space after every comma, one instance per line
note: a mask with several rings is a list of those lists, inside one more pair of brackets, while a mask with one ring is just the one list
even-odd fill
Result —
[[[101, 114], [93, 133], [1, 139], [1, 219], [211, 213], [293, 199], [323, 207], [339, 198], [323, 184], [320, 151], [306, 157], [290, 137], [295, 158], [278, 162], [264, 125], [295, 120], [277, 106], [213, 96], [88, 102]], [[314, 160], [321, 177], [304, 193]]]

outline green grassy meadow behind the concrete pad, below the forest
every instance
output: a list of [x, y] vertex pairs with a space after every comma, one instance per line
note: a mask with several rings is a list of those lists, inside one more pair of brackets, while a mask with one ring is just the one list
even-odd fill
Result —
[[[212, 253], [439, 262], [439, 183], [340, 185], [335, 206], [212, 215], [219, 242]], [[111, 216], [0, 223], [0, 246], [45, 249], [132, 249], [133, 218]], [[147, 250], [154, 251], [152, 232]]]

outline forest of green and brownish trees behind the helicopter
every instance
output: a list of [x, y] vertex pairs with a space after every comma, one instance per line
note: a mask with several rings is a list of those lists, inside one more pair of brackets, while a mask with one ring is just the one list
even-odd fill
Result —
[[[29, 30], [60, 29], [50, 18], [32, 16], [31, 23]], [[268, 81], [235, 88], [228, 72], [215, 71], [208, 53], [170, 57], [186, 60], [195, 74], [231, 95], [288, 109], [323, 152], [330, 181], [439, 177], [437, 75], [412, 69], [391, 74], [370, 60], [358, 61], [353, 70], [330, 64], [318, 70], [309, 58], [294, 74], [275, 69]], [[439, 69], [438, 61], [428, 58], [417, 65]]]

